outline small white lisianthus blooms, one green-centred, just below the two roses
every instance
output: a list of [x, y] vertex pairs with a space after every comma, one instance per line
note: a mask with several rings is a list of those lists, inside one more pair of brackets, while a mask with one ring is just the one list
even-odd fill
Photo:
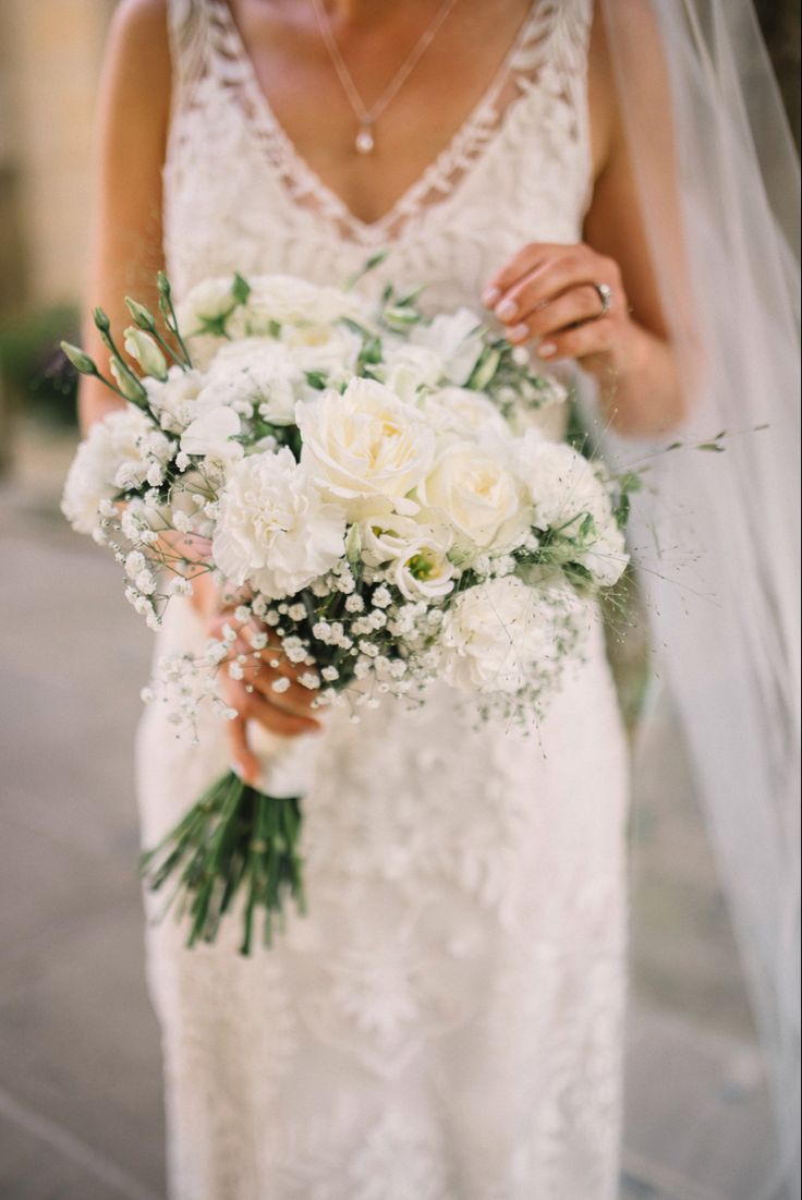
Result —
[[361, 557], [371, 566], [384, 566], [407, 600], [438, 600], [454, 588], [455, 568], [448, 552], [449, 529], [394, 517], [384, 529], [371, 521], [360, 527]]

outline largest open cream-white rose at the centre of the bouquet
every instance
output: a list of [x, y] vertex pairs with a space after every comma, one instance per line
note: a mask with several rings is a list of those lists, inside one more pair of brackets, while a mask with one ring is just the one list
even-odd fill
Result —
[[327, 391], [299, 404], [295, 419], [301, 462], [351, 520], [405, 506], [432, 461], [432, 430], [372, 379], [352, 380], [342, 396]]

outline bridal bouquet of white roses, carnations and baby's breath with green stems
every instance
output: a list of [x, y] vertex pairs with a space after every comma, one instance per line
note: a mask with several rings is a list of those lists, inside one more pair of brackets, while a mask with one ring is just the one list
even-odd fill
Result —
[[[176, 307], [161, 275], [158, 295], [161, 319], [126, 301], [122, 348], [95, 312], [109, 376], [64, 347], [126, 402], [78, 449], [66, 516], [114, 551], [152, 628], [200, 571], [229, 601], [221, 636], [163, 659], [146, 698], [178, 726], [203, 704], [233, 719], [221, 672], [268, 662], [277, 697], [292, 674], [322, 709], [414, 703], [437, 679], [531, 721], [626, 569], [635, 486], [538, 431], [557, 379], [474, 313], [427, 318], [393, 287], [372, 304], [235, 275]], [[303, 908], [310, 740], [274, 739], [258, 788], [227, 774], [144, 856], [152, 888], [175, 883], [190, 944], [239, 896], [244, 953], [257, 911], [269, 941], [287, 894]]]

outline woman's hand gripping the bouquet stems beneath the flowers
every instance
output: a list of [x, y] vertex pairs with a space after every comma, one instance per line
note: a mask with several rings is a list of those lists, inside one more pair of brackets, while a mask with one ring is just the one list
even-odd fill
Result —
[[[241, 654], [246, 659], [240, 664], [241, 679], [232, 678], [226, 666], [221, 667], [222, 694], [226, 702], [237, 710], [237, 716], [227, 722], [232, 766], [245, 782], [256, 786], [262, 764], [249, 743], [249, 721], [258, 721], [270, 733], [287, 738], [317, 733], [321, 721], [313, 715], [312, 708], [317, 692], [298, 683], [298, 677], [310, 668], [289, 662], [275, 636], [263, 650], [255, 652], [246, 638], [247, 631], [238, 628], [232, 612], [220, 613], [211, 620], [210, 636], [222, 637], [226, 625], [238, 632], [237, 641], [232, 642], [229, 658], [235, 659]], [[265, 628], [264, 632], [269, 630]], [[276, 683], [279, 691], [274, 688]]]

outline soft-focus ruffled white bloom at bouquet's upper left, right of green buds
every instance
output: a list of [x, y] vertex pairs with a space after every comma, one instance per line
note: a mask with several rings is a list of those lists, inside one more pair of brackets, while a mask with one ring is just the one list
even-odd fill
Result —
[[306, 394], [303, 372], [287, 347], [270, 337], [244, 337], [222, 346], [197, 397], [197, 409], [252, 404], [274, 425], [292, 425], [295, 402]]

